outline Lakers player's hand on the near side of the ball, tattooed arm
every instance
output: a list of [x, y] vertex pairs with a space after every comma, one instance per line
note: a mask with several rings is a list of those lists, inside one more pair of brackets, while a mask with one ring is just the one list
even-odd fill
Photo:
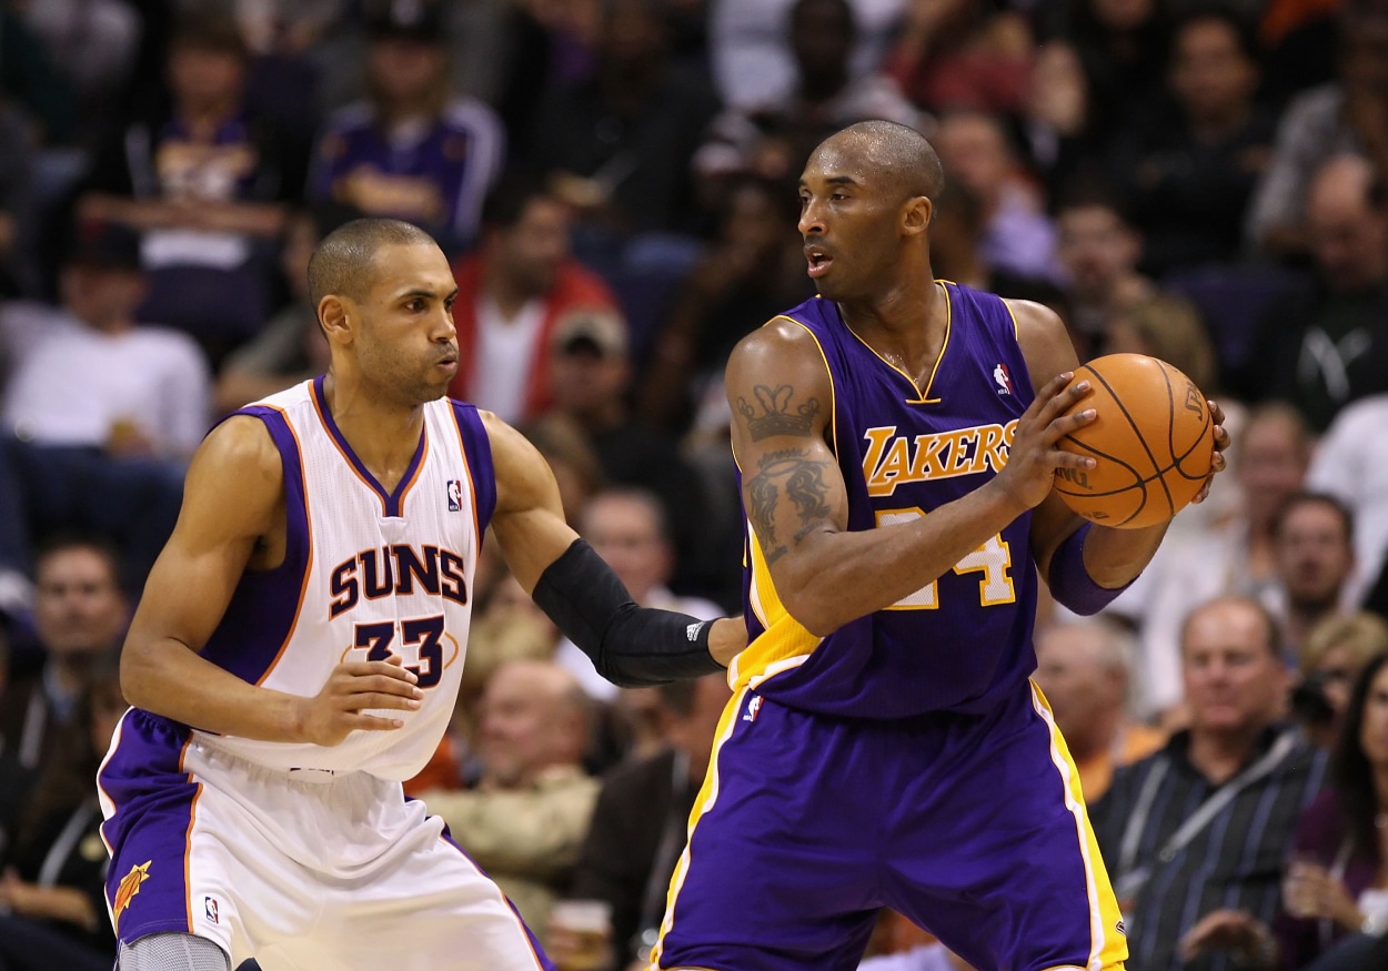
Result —
[[1076, 381], [1074, 387], [1066, 388], [1072, 377], [1074, 372], [1062, 372], [1037, 393], [1017, 419], [1008, 463], [992, 479], [994, 487], [1004, 490], [1023, 510], [1035, 509], [1051, 494], [1056, 469], [1095, 466], [1087, 455], [1058, 448], [1062, 438], [1092, 422], [1097, 415], [1092, 408], [1074, 411], [1090, 393], [1090, 383]]

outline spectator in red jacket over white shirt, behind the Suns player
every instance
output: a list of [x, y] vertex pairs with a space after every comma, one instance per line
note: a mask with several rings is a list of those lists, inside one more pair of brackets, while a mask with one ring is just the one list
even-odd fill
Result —
[[461, 362], [448, 393], [507, 422], [552, 404], [550, 348], [575, 315], [612, 316], [608, 286], [570, 252], [568, 207], [539, 183], [505, 179], [482, 211], [482, 246], [454, 264]]

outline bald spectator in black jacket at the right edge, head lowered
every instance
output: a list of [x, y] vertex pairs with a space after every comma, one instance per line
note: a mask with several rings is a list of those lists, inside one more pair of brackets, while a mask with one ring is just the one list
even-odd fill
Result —
[[1388, 391], [1388, 194], [1356, 155], [1326, 162], [1306, 194], [1316, 279], [1277, 301], [1233, 390], [1281, 398], [1324, 431], [1352, 401]]

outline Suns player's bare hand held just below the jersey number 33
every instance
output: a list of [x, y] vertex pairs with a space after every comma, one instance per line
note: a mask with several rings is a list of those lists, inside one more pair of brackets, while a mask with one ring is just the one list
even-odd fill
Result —
[[354, 731], [393, 731], [403, 719], [366, 714], [369, 709], [414, 712], [425, 692], [419, 678], [401, 666], [398, 655], [390, 660], [359, 660], [337, 664], [323, 689], [304, 698], [300, 709], [301, 741], [314, 745], [337, 745]]

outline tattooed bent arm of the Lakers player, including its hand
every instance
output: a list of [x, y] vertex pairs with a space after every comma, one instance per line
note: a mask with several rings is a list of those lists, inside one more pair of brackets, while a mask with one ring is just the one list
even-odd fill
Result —
[[909, 523], [849, 531], [847, 487], [826, 441], [833, 388], [819, 347], [788, 320], [745, 337], [727, 366], [733, 452], [748, 519], [790, 615], [824, 635], [891, 606], [1040, 501], [1038, 487], [1049, 487], [1058, 466], [1081, 467], [1078, 456], [1053, 448], [1087, 420], [1052, 427], [1078, 397], [1058, 390], [1055, 383], [1045, 399], [1038, 395], [1019, 423], [1002, 474]]

